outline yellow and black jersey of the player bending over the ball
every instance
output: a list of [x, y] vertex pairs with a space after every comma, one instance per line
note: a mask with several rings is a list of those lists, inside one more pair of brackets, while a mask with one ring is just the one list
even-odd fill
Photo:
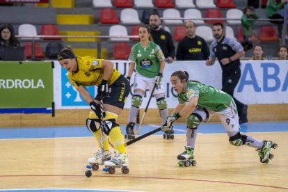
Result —
[[[104, 70], [102, 69], [102, 59], [92, 56], [77, 57], [77, 71], [69, 72], [68, 79], [74, 88], [82, 86], [99, 86], [102, 81]], [[113, 68], [111, 77], [108, 79], [110, 86], [120, 77], [120, 72]]]

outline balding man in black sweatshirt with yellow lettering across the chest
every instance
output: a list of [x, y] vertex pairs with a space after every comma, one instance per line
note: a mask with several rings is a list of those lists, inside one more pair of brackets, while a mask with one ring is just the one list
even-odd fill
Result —
[[205, 40], [195, 35], [195, 23], [185, 23], [187, 35], [179, 41], [176, 52], [177, 61], [199, 61], [209, 58], [209, 47]]

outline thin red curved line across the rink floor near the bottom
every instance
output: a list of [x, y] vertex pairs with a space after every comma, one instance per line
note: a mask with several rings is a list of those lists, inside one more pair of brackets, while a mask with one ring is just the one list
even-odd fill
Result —
[[[0, 177], [86, 177], [85, 175], [0, 175]], [[248, 184], [239, 182], [223, 182], [216, 180], [205, 180], [205, 179], [180, 179], [173, 177], [141, 177], [141, 176], [120, 176], [120, 175], [94, 175], [91, 177], [120, 177], [120, 178], [137, 178], [137, 179], [168, 179], [168, 180], [180, 180], [180, 181], [191, 181], [191, 182], [212, 182], [212, 183], [223, 183], [223, 184], [240, 184], [246, 186], [261, 186], [265, 188], [273, 189], [288, 189], [288, 187], [283, 186], [271, 186], [262, 184]], [[87, 178], [88, 179], [88, 178]]]

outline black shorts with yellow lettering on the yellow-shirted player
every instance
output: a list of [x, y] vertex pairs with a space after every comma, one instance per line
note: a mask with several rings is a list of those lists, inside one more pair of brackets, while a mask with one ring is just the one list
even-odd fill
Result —
[[[130, 83], [121, 74], [120, 77], [108, 87], [108, 94], [103, 97], [103, 103], [123, 109], [129, 93]], [[100, 100], [98, 94], [96, 95], [95, 100]]]

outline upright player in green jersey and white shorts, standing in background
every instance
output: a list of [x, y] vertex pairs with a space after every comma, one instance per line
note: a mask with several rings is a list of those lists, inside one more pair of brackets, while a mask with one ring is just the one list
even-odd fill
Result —
[[156, 86], [152, 94], [157, 99], [157, 106], [162, 122], [164, 122], [168, 116], [166, 93], [161, 83], [161, 77], [163, 76], [165, 67], [165, 57], [159, 45], [156, 45], [152, 41], [149, 26], [140, 26], [138, 35], [140, 41], [132, 47], [129, 55], [130, 66], [127, 79], [131, 78], [134, 69], [136, 69], [136, 74], [134, 79], [134, 95], [132, 97], [129, 120], [126, 127], [128, 139], [135, 137], [133, 131], [135, 119], [147, 88], [150, 90], [150, 93], [152, 93], [154, 86]]

